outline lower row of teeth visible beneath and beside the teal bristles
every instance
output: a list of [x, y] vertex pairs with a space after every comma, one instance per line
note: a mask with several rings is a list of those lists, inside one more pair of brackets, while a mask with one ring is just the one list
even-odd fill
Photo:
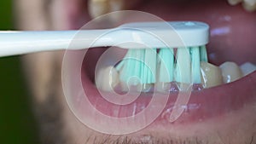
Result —
[[[210, 88], [220, 84], [230, 83], [254, 71], [256, 71], [256, 66], [249, 62], [241, 66], [237, 66], [236, 63], [228, 61], [218, 67], [202, 61], [202, 86], [204, 88]], [[104, 91], [113, 91], [113, 88], [118, 84], [121, 84], [122, 89], [127, 91], [128, 88], [123, 85], [124, 83], [125, 82], [119, 82], [119, 72], [117, 72], [113, 66], [102, 68], [96, 74], [96, 86], [98, 89], [102, 89]], [[156, 89], [160, 91], [170, 89], [170, 83], [158, 83], [155, 84], [155, 86]], [[143, 91], [150, 89], [149, 87], [143, 88], [140, 84], [138, 84], [137, 87], [138, 89], [143, 89]]]

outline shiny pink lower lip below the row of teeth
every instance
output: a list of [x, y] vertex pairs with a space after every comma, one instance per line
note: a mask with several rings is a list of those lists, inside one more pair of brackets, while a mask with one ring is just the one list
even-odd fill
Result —
[[[73, 57], [75, 58], [76, 56], [73, 55]], [[145, 108], [148, 106], [148, 103], [152, 100], [152, 93], [142, 93], [136, 101], [123, 106], [117, 106], [106, 101], [98, 89], [96, 89], [95, 84], [93, 84], [91, 79], [88, 77], [88, 72], [86, 72], [86, 70], [88, 70], [86, 67], [92, 67], [90, 66], [91, 63], [93, 62], [91, 62], [89, 58], [86, 60], [84, 59], [83, 66], [80, 69], [81, 79], [79, 79], [79, 81], [82, 80], [81, 83], [84, 93], [89, 99], [91, 105], [96, 107], [98, 111], [111, 117], [125, 118], [134, 116], [138, 112], [143, 111], [143, 107]], [[93, 70], [94, 68], [91, 68], [91, 71]], [[230, 84], [224, 84], [211, 89], [192, 91], [185, 111], [179, 118], [177, 118], [175, 124], [201, 122], [202, 120], [217, 118], [224, 113], [234, 112], [241, 107], [245, 107], [251, 104], [251, 102], [255, 102], [255, 85], [256, 72], [253, 72], [245, 78], [241, 78]], [[111, 95], [111, 93], [108, 95]], [[160, 94], [156, 94], [154, 96], [158, 95]], [[170, 93], [165, 109], [159, 113], [159, 117], [156, 119], [158, 123], [170, 122], [168, 118], [170, 117], [174, 103], [177, 100], [177, 95], [178, 92]], [[80, 109], [80, 112], [83, 112], [83, 106], [86, 105], [86, 103], [84, 101], [73, 102], [73, 106], [77, 106], [77, 109]], [[117, 112], [118, 114], [116, 114]]]

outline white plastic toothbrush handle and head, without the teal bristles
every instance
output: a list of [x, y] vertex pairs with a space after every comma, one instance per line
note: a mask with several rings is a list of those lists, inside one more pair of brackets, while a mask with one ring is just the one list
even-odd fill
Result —
[[[208, 29], [209, 26], [203, 22], [170, 21], [128, 23], [113, 29], [98, 30], [2, 31], [0, 56], [114, 45], [124, 49], [201, 46], [208, 43]], [[73, 43], [72, 47], [69, 47], [70, 43]]]

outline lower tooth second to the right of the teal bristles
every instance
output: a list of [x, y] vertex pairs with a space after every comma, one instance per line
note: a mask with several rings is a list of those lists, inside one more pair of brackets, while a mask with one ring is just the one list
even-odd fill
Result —
[[235, 62], [224, 62], [222, 65], [219, 66], [222, 71], [222, 76], [224, 83], [231, 83], [236, 79], [242, 77], [242, 72], [239, 66], [236, 65]]

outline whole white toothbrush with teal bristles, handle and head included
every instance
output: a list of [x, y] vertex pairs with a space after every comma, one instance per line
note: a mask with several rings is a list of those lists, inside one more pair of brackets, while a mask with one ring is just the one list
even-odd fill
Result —
[[199, 21], [137, 22], [81, 31], [7, 31], [0, 32], [0, 56], [119, 46], [128, 49], [116, 66], [120, 81], [127, 83], [137, 77], [141, 84], [154, 84], [156, 79], [160, 83], [201, 84], [200, 62], [207, 61], [208, 37], [209, 26]]

